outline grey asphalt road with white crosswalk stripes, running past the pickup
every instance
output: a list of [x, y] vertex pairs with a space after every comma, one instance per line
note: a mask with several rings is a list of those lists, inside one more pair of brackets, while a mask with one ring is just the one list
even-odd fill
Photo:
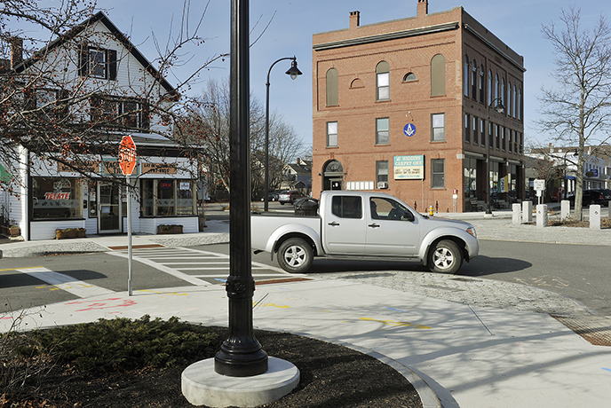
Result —
[[[227, 244], [218, 244], [189, 248], [186, 252], [164, 248], [135, 251], [132, 289], [221, 285], [229, 273], [228, 250]], [[125, 291], [128, 279], [125, 256], [98, 253], [4, 258], [0, 260], [0, 313], [67, 302], [104, 290]], [[481, 240], [480, 256], [464, 263], [458, 275], [540, 287], [583, 302], [600, 315], [611, 316], [609, 259], [609, 247], [603, 246]], [[252, 261], [256, 263], [253, 269], [256, 280], [290, 277], [278, 269], [269, 254], [252, 255]], [[39, 275], [41, 271], [43, 275]], [[49, 271], [67, 279], [58, 284], [46, 277]], [[316, 260], [308, 273], [338, 271], [427, 270], [420, 263]], [[40, 279], [43, 276], [46, 278]]]

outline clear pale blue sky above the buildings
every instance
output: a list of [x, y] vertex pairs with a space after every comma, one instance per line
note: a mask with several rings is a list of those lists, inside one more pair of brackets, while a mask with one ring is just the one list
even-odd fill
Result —
[[[193, 0], [191, 25], [203, 12], [204, 0]], [[608, 14], [611, 4], [606, 1], [582, 0], [513, 0], [499, 2], [490, 0], [429, 0], [429, 12], [442, 12], [462, 6], [493, 34], [524, 56], [525, 74], [525, 133], [529, 139], [546, 140], [538, 135], [534, 126], [537, 119], [541, 87], [554, 85], [551, 72], [554, 69], [551, 43], [541, 34], [542, 24], [554, 21], [560, 27], [560, 10], [576, 4], [582, 10], [582, 26], [595, 23], [600, 13]], [[178, 27], [181, 0], [99, 0], [110, 20], [131, 35], [147, 59], [155, 59], [155, 43], [151, 32], [160, 43], [167, 40], [171, 17]], [[185, 79], [195, 66], [203, 60], [229, 51], [230, 41], [229, 0], [211, 0], [203, 19], [200, 35], [206, 43], [199, 46], [192, 60], [174, 70], [180, 79]], [[298, 132], [305, 145], [312, 143], [312, 35], [324, 31], [347, 28], [349, 12], [361, 12], [361, 25], [412, 17], [417, 14], [417, 0], [258, 0], [250, 2], [251, 38], [261, 34], [270, 19], [263, 36], [250, 49], [250, 90], [265, 103], [266, 75], [276, 59], [292, 57], [298, 59], [298, 67], [304, 73], [291, 81], [284, 72], [290, 61], [282, 61], [274, 67], [270, 78], [270, 108], [282, 114]], [[274, 16], [275, 12], [275, 16]], [[258, 21], [258, 25], [256, 23]], [[209, 78], [225, 79], [229, 76], [229, 62], [219, 61], [210, 71], [202, 73], [201, 82]], [[169, 77], [171, 83], [178, 82]], [[204, 83], [195, 85], [191, 92], [199, 93]]]

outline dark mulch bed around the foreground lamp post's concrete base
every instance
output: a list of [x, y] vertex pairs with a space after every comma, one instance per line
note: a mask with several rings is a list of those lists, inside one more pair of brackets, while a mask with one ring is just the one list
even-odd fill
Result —
[[[226, 328], [211, 327], [226, 338]], [[298, 388], [268, 408], [422, 407], [416, 390], [400, 373], [373, 357], [353, 349], [290, 333], [256, 331], [258, 341], [270, 356], [298, 366]], [[10, 350], [9, 347], [5, 350]], [[220, 341], [218, 342], [220, 347]], [[218, 350], [218, 348], [217, 348]], [[198, 356], [194, 361], [213, 356]], [[3, 360], [4, 361], [1, 361]], [[129, 373], [75, 373], [69, 366], [53, 365], [44, 358], [12, 361], [12, 353], [0, 356], [2, 366], [20, 365], [33, 375], [19, 394], [0, 390], [0, 407], [191, 407], [180, 390], [180, 374], [186, 368], [145, 368]], [[38, 372], [38, 373], [36, 373]]]

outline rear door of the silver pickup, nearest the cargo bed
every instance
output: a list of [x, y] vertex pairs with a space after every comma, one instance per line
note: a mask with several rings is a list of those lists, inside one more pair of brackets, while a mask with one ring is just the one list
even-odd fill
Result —
[[363, 254], [365, 212], [363, 199], [355, 195], [334, 195], [325, 209], [322, 239], [329, 255]]

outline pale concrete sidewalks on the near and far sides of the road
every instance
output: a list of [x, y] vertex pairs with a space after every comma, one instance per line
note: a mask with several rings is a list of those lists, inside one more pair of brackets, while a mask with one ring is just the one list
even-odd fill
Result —
[[[510, 212], [492, 219], [479, 214], [469, 222], [480, 239], [611, 246], [611, 230], [512, 225]], [[228, 239], [228, 224], [209, 222], [209, 228], [200, 234], [136, 236], [133, 245], [183, 247]], [[115, 236], [13, 242], [0, 249], [18, 255], [83, 248], [108, 251], [125, 245], [125, 236]], [[398, 368], [409, 367], [402, 372], [417, 374], [410, 381], [416, 383], [426, 407], [607, 407], [611, 400], [611, 349], [591, 345], [546, 314], [449, 302], [359, 279], [259, 284], [254, 302], [258, 328], [370, 350]], [[135, 291], [132, 296], [100, 294], [24, 311], [20, 328], [144, 314], [226, 326], [227, 305], [225, 287], [220, 285]], [[0, 331], [19, 317], [20, 312], [1, 316]]]

